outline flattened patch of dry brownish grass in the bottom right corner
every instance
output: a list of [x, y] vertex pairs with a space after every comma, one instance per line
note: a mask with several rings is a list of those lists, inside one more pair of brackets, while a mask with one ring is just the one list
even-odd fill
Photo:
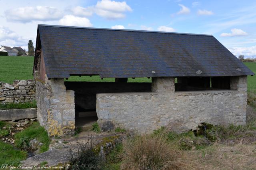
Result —
[[234, 146], [215, 143], [202, 150], [191, 150], [195, 159], [200, 162], [202, 169], [214, 170], [255, 170], [256, 147], [255, 145]]

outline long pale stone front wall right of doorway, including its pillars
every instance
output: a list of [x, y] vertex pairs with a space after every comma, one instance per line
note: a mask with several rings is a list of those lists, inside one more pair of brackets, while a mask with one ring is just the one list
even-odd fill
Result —
[[174, 91], [174, 78], [153, 78], [152, 92], [97, 94], [98, 123], [150, 133], [171, 125], [177, 132], [200, 123], [242, 125], [246, 121], [247, 76], [232, 77], [231, 90]]

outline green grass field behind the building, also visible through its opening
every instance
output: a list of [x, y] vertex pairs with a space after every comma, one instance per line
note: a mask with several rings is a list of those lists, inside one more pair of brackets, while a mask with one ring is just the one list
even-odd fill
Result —
[[[13, 83], [13, 80], [33, 79], [34, 57], [0, 56], [0, 81]], [[256, 63], [244, 63], [254, 73], [256, 73]], [[100, 76], [71, 76], [66, 81], [90, 81], [90, 82], [114, 82], [114, 78], [104, 78]], [[151, 82], [148, 78], [128, 78], [128, 82]], [[248, 90], [256, 90], [256, 76], [248, 76]]]

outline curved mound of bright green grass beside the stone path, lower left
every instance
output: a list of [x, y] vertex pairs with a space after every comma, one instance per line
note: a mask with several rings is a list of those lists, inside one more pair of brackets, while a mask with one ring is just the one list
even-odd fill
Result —
[[50, 138], [44, 127], [40, 126], [38, 122], [33, 122], [33, 124], [27, 129], [16, 133], [14, 136], [15, 146], [22, 149], [30, 149], [29, 142], [32, 139], [36, 139], [43, 145], [40, 147], [40, 152], [45, 152], [49, 149]]

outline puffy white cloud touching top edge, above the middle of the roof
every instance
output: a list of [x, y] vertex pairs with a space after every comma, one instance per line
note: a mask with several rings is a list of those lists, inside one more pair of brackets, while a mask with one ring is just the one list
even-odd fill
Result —
[[124, 18], [124, 12], [131, 12], [132, 8], [126, 2], [116, 2], [111, 0], [98, 1], [94, 10], [98, 16], [109, 20]]

